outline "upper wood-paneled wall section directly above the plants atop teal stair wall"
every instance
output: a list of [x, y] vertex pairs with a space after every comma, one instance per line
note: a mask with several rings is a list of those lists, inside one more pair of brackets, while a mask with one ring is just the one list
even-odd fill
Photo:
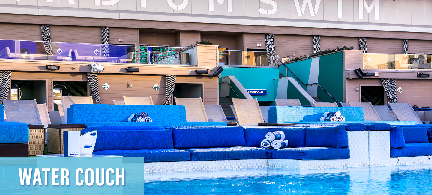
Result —
[[321, 50], [332, 50], [337, 47], [354, 47], [353, 50], [359, 49], [359, 38], [357, 37], [329, 37], [321, 36]]

